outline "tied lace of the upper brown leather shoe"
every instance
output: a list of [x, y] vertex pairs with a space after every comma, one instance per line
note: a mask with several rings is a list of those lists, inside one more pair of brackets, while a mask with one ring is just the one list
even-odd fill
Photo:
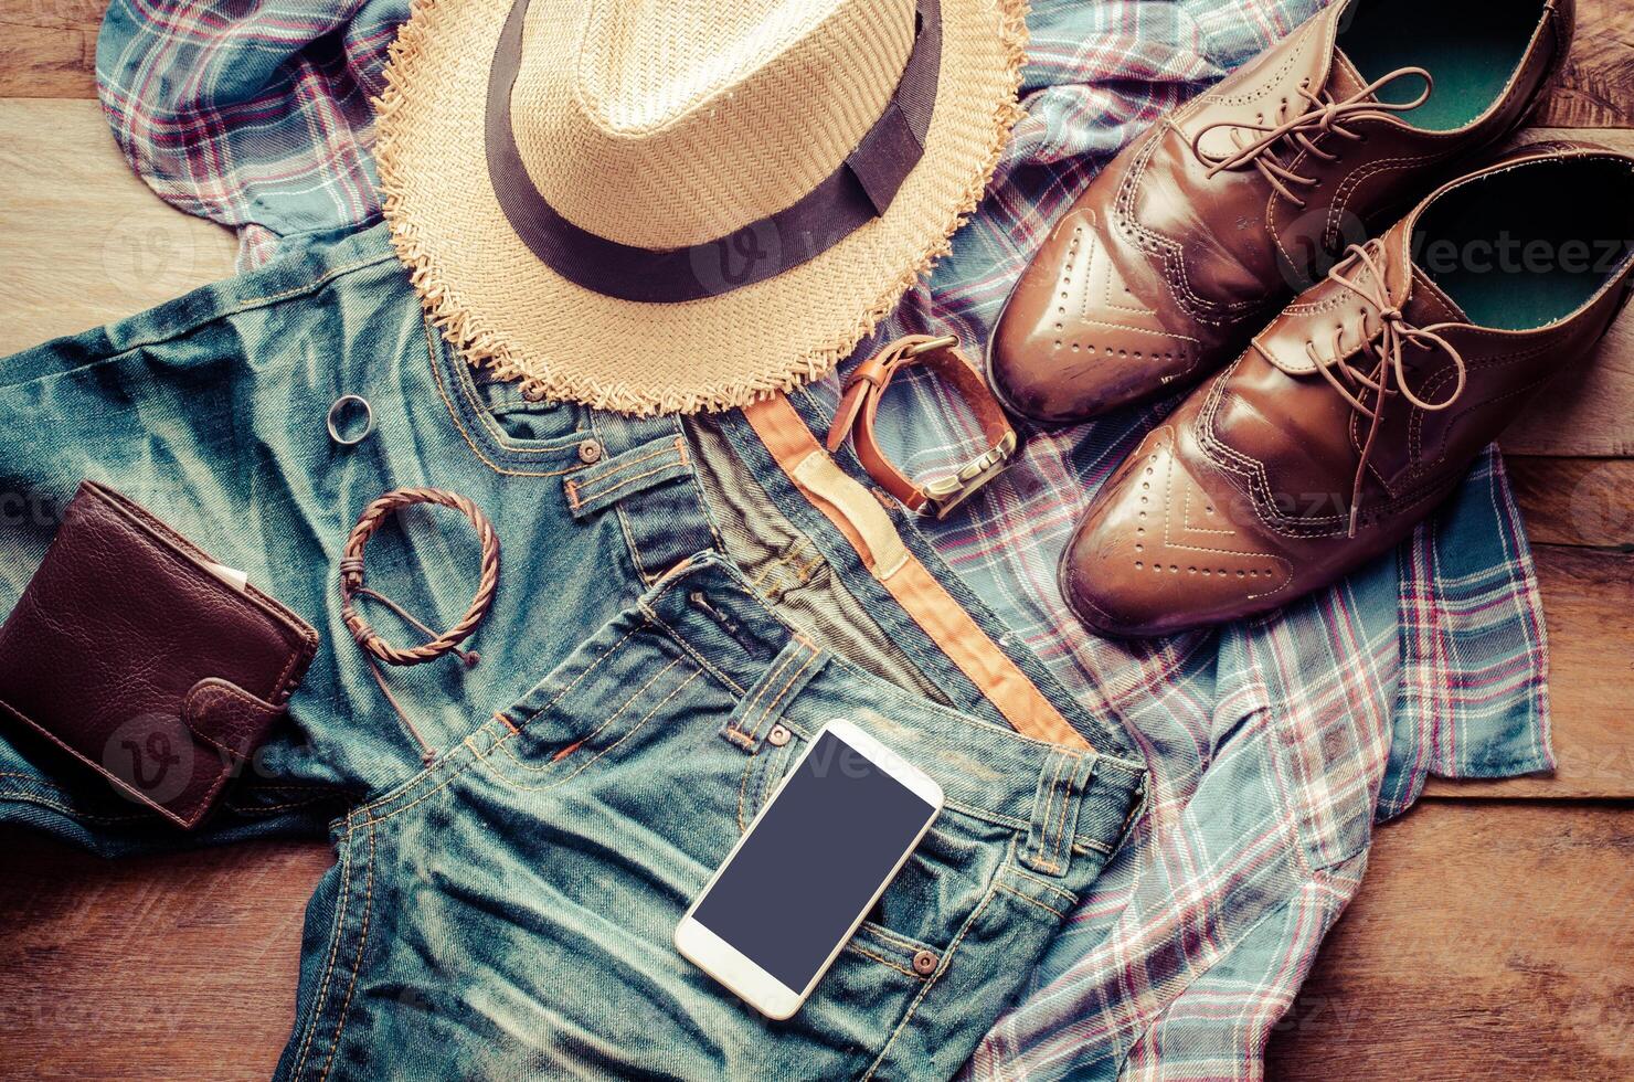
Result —
[[[1392, 101], [1369, 101], [1373, 95], [1387, 87], [1389, 83], [1417, 75], [1425, 80], [1423, 93], [1420, 93], [1412, 101], [1392, 103]], [[1296, 90], [1301, 98], [1304, 98], [1304, 108], [1286, 119], [1283, 114], [1288, 111], [1288, 101], [1278, 106], [1278, 123], [1276, 124], [1248, 124], [1245, 121], [1216, 121], [1203, 127], [1191, 139], [1191, 154], [1203, 165], [1209, 167], [1208, 175], [1212, 178], [1227, 170], [1239, 170], [1253, 167], [1260, 170], [1266, 183], [1276, 190], [1284, 199], [1291, 201], [1297, 208], [1304, 208], [1306, 201], [1294, 193], [1294, 185], [1301, 188], [1312, 188], [1320, 183], [1317, 177], [1301, 177], [1296, 173], [1289, 163], [1283, 159], [1284, 154], [1297, 155], [1301, 150], [1320, 159], [1324, 162], [1333, 162], [1338, 159], [1337, 154], [1324, 150], [1319, 141], [1324, 136], [1333, 134], [1342, 139], [1366, 139], [1361, 132], [1346, 127], [1346, 123], [1355, 123], [1361, 119], [1384, 119], [1391, 113], [1407, 113], [1417, 110], [1420, 105], [1430, 100], [1430, 92], [1435, 88], [1435, 80], [1422, 67], [1400, 67], [1382, 75], [1348, 98], [1337, 100], [1328, 90], [1320, 90], [1312, 93], [1307, 83], [1301, 83]], [[1263, 119], [1263, 118], [1261, 118]], [[1230, 154], [1212, 154], [1203, 149], [1203, 137], [1208, 136], [1216, 127], [1224, 127], [1230, 131], [1232, 142], [1237, 144], [1237, 150]], [[1243, 142], [1245, 132], [1258, 132], [1247, 144]]]

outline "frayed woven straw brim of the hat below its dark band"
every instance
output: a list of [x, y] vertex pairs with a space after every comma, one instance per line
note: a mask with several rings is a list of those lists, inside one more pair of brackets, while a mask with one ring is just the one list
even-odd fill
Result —
[[949, 250], [1020, 116], [1025, 0], [941, 0], [925, 154], [879, 219], [730, 293], [618, 301], [539, 262], [493, 194], [484, 103], [507, 8], [415, 0], [376, 103], [376, 159], [392, 244], [433, 322], [472, 363], [549, 399], [693, 414], [827, 374]]

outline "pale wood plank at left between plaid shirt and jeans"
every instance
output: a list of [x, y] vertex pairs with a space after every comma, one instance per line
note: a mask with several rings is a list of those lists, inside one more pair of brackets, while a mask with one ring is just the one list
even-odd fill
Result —
[[235, 237], [162, 203], [95, 101], [0, 100], [0, 356], [234, 270]]

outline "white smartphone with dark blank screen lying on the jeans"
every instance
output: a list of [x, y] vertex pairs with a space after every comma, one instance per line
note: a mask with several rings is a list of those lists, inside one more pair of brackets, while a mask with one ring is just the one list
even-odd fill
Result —
[[675, 948], [768, 1018], [789, 1018], [941, 811], [941, 786], [830, 721], [675, 928]]

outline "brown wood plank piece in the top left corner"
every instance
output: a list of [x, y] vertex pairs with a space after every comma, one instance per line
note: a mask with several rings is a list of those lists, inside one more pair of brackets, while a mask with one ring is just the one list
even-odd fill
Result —
[[95, 98], [103, 0], [0, 0], [0, 96]]

